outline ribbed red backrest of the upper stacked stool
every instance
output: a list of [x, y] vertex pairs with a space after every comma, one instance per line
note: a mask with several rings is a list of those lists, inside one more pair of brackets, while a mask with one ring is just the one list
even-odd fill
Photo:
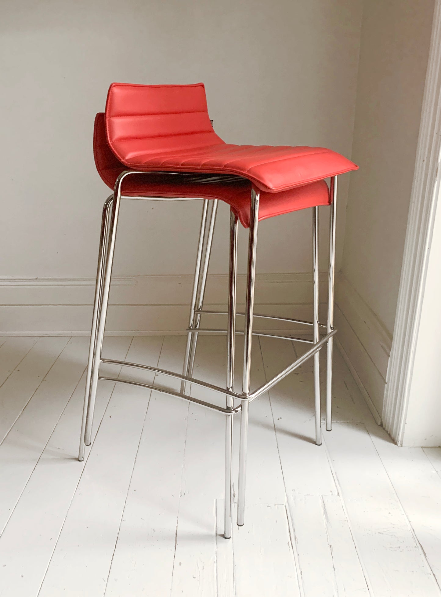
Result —
[[205, 87], [112, 83], [106, 136], [124, 164], [137, 155], [162, 155], [223, 143], [208, 116]]

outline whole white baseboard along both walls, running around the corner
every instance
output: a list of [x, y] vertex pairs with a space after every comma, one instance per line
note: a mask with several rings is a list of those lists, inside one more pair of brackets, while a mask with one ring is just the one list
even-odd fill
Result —
[[[320, 318], [326, 321], [326, 273], [320, 274]], [[192, 275], [132, 276], [112, 279], [106, 334], [149, 336], [183, 334], [187, 327]], [[227, 275], [208, 277], [205, 308], [225, 310]], [[93, 279], [0, 279], [0, 336], [88, 336]], [[245, 276], [238, 276], [238, 311], [243, 312]], [[381, 422], [391, 339], [375, 314], [347, 280], [335, 285], [337, 343], [375, 420]], [[310, 273], [258, 274], [255, 313], [312, 321]], [[240, 326], [240, 318], [238, 325]], [[206, 327], [225, 328], [210, 316]], [[304, 327], [257, 320], [256, 330], [304, 334]], [[350, 355], [350, 356], [349, 356]]]

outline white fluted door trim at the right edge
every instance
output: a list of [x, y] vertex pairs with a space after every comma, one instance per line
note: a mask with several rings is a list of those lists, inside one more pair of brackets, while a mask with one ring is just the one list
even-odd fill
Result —
[[412, 395], [415, 355], [440, 190], [440, 151], [441, 0], [436, 0], [396, 318], [384, 392], [383, 426], [398, 445], [403, 445], [409, 399]]

